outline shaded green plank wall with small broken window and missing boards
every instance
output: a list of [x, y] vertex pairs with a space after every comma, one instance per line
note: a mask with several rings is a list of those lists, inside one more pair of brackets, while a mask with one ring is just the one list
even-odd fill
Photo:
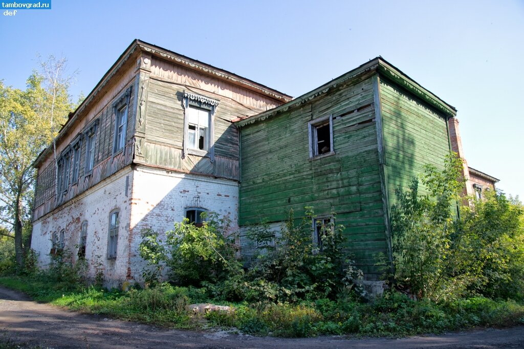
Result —
[[[309, 158], [308, 122], [333, 115], [334, 155]], [[239, 224], [336, 213], [345, 247], [368, 279], [387, 253], [372, 78], [331, 88], [298, 108], [241, 128]]]

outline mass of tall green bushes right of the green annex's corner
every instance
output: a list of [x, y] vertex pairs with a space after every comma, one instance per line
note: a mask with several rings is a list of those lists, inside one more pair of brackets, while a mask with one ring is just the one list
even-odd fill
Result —
[[466, 295], [522, 299], [522, 204], [485, 192], [483, 200], [456, 206], [464, 186], [462, 161], [453, 154], [442, 171], [426, 167], [392, 208], [394, 282], [418, 298], [451, 301]]

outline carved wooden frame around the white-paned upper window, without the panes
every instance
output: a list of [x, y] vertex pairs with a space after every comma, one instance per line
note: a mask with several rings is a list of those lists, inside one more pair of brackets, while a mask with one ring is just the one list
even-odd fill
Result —
[[[205, 156], [211, 159], [211, 162], [215, 160], [215, 112], [216, 107], [219, 105], [219, 101], [204, 97], [198, 94], [190, 92], [184, 92], [183, 94], [183, 108], [184, 108], [184, 131], [182, 141], [182, 158], [185, 158], [188, 154]], [[209, 126], [208, 126], [208, 149], [193, 149], [189, 147], [189, 110], [190, 108], [200, 109], [209, 111]]]

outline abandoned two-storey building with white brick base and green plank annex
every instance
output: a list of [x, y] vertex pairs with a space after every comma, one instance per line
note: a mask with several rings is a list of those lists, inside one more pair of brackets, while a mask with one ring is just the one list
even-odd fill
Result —
[[292, 99], [135, 40], [61, 129], [58, 166], [52, 148], [35, 161], [31, 247], [41, 265], [53, 248], [80, 250], [116, 286], [141, 280], [144, 228], [214, 211], [241, 232], [260, 220], [278, 230], [313, 206], [312, 239], [336, 212], [356, 265], [378, 280], [395, 188], [443, 165], [455, 115], [382, 58]]

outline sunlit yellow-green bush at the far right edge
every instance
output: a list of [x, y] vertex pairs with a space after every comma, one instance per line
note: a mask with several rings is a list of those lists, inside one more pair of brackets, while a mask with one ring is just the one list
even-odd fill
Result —
[[485, 191], [472, 203], [462, 208], [458, 224], [468, 248], [461, 265], [481, 275], [471, 287], [488, 297], [523, 300], [524, 206], [495, 191]]

